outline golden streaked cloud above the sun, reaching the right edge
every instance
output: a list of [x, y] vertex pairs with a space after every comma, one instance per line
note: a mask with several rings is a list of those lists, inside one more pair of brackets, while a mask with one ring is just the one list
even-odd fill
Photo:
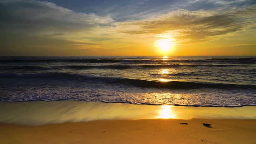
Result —
[[128, 35], [171, 35], [179, 43], [217, 39], [256, 26], [256, 5], [228, 10], [176, 10], [149, 20], [115, 23]]

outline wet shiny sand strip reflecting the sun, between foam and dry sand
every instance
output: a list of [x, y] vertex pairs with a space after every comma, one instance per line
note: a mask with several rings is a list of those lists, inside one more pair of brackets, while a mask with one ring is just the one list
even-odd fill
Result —
[[256, 106], [184, 107], [92, 101], [0, 101], [0, 123], [43, 125], [96, 120], [256, 119]]

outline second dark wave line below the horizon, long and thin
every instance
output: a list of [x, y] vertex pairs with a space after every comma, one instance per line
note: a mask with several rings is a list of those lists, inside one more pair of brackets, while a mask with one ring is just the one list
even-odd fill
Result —
[[159, 69], [175, 67], [246, 67], [249, 65], [216, 65], [216, 64], [169, 64], [169, 65], [62, 65], [62, 66], [0, 66], [0, 69], [8, 70], [48, 70], [48, 69]]

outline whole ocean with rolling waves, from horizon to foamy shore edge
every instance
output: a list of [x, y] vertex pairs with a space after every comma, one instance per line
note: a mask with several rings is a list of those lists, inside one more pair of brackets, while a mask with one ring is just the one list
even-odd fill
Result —
[[58, 100], [256, 105], [256, 57], [0, 57], [0, 101]]

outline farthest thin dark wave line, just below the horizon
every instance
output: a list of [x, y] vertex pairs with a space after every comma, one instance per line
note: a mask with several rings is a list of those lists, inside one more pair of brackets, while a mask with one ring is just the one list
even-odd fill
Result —
[[184, 62], [184, 63], [256, 63], [256, 58], [239, 58], [239, 59], [196, 59], [196, 60], [150, 60], [150, 59], [9, 59], [0, 60], [0, 62], [82, 62], [82, 63], [163, 63], [163, 62]]

